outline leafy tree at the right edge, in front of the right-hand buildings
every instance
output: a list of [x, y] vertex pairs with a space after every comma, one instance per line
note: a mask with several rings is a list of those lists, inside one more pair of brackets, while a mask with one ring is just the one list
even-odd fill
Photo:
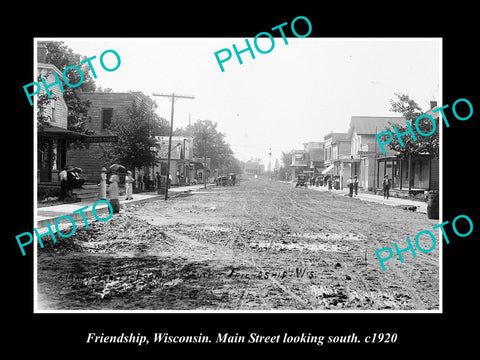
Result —
[[[415, 129], [416, 119], [423, 114], [422, 109], [418, 104], [410, 99], [408, 95], [395, 93], [396, 100], [390, 100], [390, 111], [402, 114], [403, 118], [408, 121]], [[390, 123], [391, 126], [396, 126], [399, 133], [408, 131], [407, 125], [401, 125], [396, 123]], [[418, 121], [418, 128], [423, 134], [429, 134], [433, 130], [432, 122], [423, 117]], [[436, 125], [435, 125], [436, 126]], [[401, 146], [398, 138], [393, 136], [392, 141], [388, 144], [390, 149], [397, 151], [399, 158], [415, 158], [417, 156], [431, 156], [438, 157], [440, 154], [439, 149], [439, 127], [436, 126], [435, 131], [429, 136], [422, 136], [421, 134], [415, 134], [416, 141], [413, 140], [411, 135], [402, 137], [403, 146]], [[385, 139], [383, 139], [385, 141]]]

